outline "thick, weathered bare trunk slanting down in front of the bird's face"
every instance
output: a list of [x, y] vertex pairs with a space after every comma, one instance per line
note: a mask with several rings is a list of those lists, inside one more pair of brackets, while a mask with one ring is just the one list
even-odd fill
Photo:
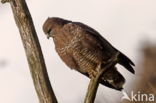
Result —
[[10, 2], [11, 4], [40, 103], [57, 103], [48, 78], [35, 27], [25, 0], [1, 0], [1, 2]]

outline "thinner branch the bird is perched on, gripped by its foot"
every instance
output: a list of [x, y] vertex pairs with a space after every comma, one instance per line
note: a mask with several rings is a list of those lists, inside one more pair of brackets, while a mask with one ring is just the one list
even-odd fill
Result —
[[97, 89], [99, 86], [99, 80], [101, 76], [111, 67], [113, 67], [117, 62], [118, 62], [118, 55], [119, 52], [117, 52], [110, 60], [108, 60], [105, 64], [104, 67], [101, 68], [101, 64], [99, 64], [96, 68], [97, 70], [97, 75], [94, 78], [91, 78], [87, 94], [85, 97], [84, 103], [94, 103]]

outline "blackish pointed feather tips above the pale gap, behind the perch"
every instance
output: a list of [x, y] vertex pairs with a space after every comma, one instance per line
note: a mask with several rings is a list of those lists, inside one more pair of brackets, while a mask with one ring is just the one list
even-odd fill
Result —
[[124, 66], [128, 71], [131, 73], [135, 73], [134, 69], [132, 66], [135, 66], [135, 64], [124, 54], [120, 53], [119, 54], [119, 64]]

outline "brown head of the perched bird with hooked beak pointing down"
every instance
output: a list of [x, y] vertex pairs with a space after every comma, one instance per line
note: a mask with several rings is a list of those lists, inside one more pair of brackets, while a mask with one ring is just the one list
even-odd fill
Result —
[[64, 20], [58, 17], [49, 18], [43, 24], [43, 31], [47, 35], [47, 38], [54, 36], [54, 30], [56, 28], [63, 27], [63, 25], [69, 23], [70, 21]]

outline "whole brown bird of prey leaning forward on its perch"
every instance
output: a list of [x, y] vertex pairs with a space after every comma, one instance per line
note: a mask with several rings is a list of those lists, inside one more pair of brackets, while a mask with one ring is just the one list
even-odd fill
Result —
[[[86, 24], [52, 17], [43, 24], [43, 31], [48, 38], [53, 38], [56, 52], [63, 62], [89, 78], [96, 75], [96, 67], [99, 64], [105, 63], [117, 52], [118, 63], [134, 74], [134, 63]], [[103, 68], [101, 66], [101, 69]], [[114, 66], [102, 75], [100, 83], [122, 90], [125, 78]]]

